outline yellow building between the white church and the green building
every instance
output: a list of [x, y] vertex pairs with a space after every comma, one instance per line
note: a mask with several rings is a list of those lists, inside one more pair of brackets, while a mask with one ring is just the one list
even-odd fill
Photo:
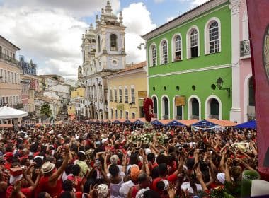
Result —
[[109, 119], [143, 117], [143, 100], [147, 97], [146, 62], [133, 64], [105, 76], [108, 83]]

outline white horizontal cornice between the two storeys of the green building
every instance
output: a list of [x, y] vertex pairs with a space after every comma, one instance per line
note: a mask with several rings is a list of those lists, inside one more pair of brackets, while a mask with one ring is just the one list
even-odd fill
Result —
[[174, 71], [174, 72], [165, 73], [165, 74], [149, 75], [147, 77], [148, 78], [156, 78], [156, 77], [161, 77], [161, 76], [173, 76], [173, 75], [177, 75], [177, 74], [187, 74], [187, 73], [193, 73], [193, 72], [198, 72], [198, 71], [208, 71], [208, 70], [213, 70], [213, 69], [224, 69], [224, 68], [229, 68], [229, 67], [232, 67], [232, 66], [233, 66], [232, 64], [208, 66], [208, 67], [203, 67], [203, 68], [198, 68], [198, 69], [187, 69], [187, 70]]

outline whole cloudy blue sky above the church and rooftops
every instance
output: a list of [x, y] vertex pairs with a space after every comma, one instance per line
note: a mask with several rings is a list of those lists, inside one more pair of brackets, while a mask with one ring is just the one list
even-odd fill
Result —
[[[38, 65], [38, 74], [77, 78], [82, 64], [81, 37], [95, 25], [107, 0], [0, 0], [0, 35], [21, 48], [17, 56]], [[122, 11], [127, 63], [146, 59], [141, 35], [207, 0], [110, 0]]]

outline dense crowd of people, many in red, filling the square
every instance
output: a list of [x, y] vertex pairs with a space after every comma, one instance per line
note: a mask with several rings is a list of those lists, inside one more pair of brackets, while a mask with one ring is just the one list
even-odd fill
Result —
[[243, 170], [257, 170], [251, 129], [72, 122], [0, 133], [3, 198], [239, 197]]

